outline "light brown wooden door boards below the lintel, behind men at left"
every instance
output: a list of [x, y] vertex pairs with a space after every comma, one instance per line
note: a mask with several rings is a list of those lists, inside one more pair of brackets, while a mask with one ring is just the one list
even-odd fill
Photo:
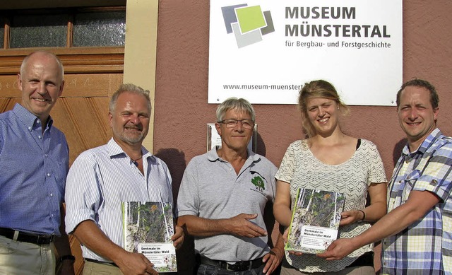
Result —
[[[16, 76], [0, 76], [0, 112], [21, 101]], [[63, 94], [50, 115], [69, 144], [70, 163], [88, 148], [105, 144], [112, 136], [108, 124], [109, 97], [122, 82], [122, 74], [65, 76]], [[8, 90], [4, 90], [7, 88]]]

